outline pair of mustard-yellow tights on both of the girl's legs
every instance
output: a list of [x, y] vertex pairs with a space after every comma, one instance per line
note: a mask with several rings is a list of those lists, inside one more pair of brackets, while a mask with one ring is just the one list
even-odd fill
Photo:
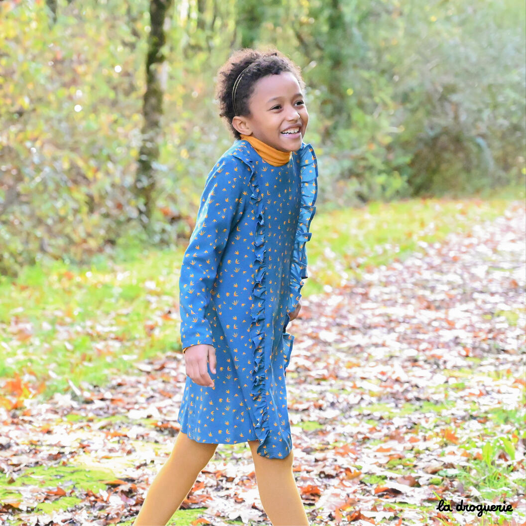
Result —
[[[268, 459], [256, 452], [258, 440], [249, 440], [248, 444], [261, 504], [272, 525], [308, 526], [292, 473], [292, 452], [284, 459]], [[216, 448], [217, 444], [196, 442], [180, 431], [173, 451], [148, 489], [133, 526], [164, 526], [193, 488]]]

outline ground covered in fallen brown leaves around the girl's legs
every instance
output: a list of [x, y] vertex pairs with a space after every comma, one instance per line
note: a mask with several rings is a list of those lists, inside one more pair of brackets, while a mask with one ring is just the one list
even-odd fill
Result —
[[[515, 203], [303, 301], [287, 393], [311, 524], [525, 522], [525, 220]], [[0, 523], [130, 524], [184, 380], [170, 354], [105, 389], [0, 409]], [[269, 524], [248, 444], [220, 444], [183, 508], [173, 524]]]

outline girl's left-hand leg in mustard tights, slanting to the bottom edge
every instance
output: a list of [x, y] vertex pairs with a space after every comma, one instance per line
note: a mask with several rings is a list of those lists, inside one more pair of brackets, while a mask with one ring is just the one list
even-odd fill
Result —
[[174, 449], [151, 483], [133, 526], [166, 524], [192, 489], [217, 444], [205, 444], [179, 431]]

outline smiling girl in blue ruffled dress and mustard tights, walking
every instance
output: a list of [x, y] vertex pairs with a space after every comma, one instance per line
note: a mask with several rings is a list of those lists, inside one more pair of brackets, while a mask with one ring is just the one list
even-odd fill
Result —
[[274, 525], [305, 525], [292, 473], [286, 367], [307, 278], [317, 164], [299, 68], [277, 50], [242, 49], [218, 72], [234, 144], [208, 174], [180, 275], [186, 383], [174, 450], [135, 526], [166, 524], [214, 456], [248, 442]]

